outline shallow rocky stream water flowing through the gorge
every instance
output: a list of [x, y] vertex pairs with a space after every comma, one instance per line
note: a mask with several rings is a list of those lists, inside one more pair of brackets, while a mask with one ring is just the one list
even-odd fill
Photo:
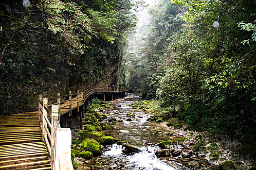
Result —
[[[172, 161], [156, 157], [155, 152], [160, 149], [156, 145], [157, 143], [171, 138], [177, 140], [178, 136], [165, 135], [168, 129], [164, 129], [164, 126], [161, 127], [160, 123], [146, 121], [149, 118], [148, 114], [126, 105], [138, 100], [141, 98], [130, 95], [115, 102], [113, 105], [117, 108], [107, 111], [108, 119], [122, 119], [123, 122], [114, 125], [108, 122], [112, 130], [103, 131], [103, 134], [135, 145], [140, 152], [125, 154], [122, 152], [124, 149], [122, 145], [113, 144], [103, 149], [101, 157], [92, 158], [87, 162], [86, 166], [91, 170], [185, 170]], [[127, 121], [127, 113], [134, 114], [135, 118], [132, 118], [132, 121]], [[163, 134], [155, 134], [158, 130], [162, 130]]]

